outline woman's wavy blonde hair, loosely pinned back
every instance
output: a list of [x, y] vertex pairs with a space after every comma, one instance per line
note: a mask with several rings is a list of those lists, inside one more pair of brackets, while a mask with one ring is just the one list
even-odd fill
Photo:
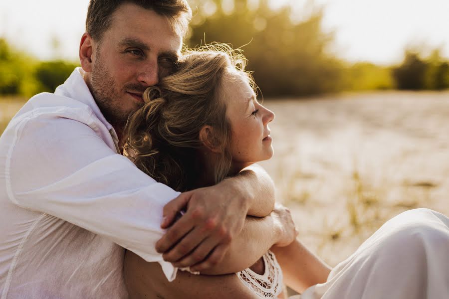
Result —
[[196, 180], [208, 162], [199, 149], [200, 131], [209, 125], [222, 149], [214, 163], [215, 183], [223, 180], [231, 166], [223, 89], [237, 72], [256, 90], [245, 66], [241, 51], [227, 44], [185, 50], [175, 73], [149, 87], [144, 106], [130, 116], [124, 153], [155, 180], [177, 191], [190, 190], [198, 187]]

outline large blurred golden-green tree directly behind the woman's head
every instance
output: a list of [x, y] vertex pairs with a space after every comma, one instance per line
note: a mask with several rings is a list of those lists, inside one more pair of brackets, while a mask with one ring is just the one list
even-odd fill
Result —
[[341, 89], [342, 63], [327, 52], [333, 34], [322, 30], [321, 9], [294, 23], [291, 7], [273, 11], [267, 0], [258, 5], [248, 0], [190, 3], [194, 18], [187, 43], [196, 46], [206, 39], [244, 45], [248, 70], [254, 72], [264, 95], [300, 96]]

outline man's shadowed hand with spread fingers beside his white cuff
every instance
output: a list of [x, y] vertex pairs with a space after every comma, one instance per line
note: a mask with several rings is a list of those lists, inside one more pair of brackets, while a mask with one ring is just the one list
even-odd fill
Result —
[[210, 268], [240, 233], [248, 207], [248, 200], [227, 180], [182, 193], [164, 207], [161, 227], [169, 227], [179, 211], [186, 212], [156, 243], [156, 250], [175, 267]]

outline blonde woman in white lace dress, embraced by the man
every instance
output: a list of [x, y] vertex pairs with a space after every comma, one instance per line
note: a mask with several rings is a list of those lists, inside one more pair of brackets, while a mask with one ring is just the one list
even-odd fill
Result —
[[[173, 75], [145, 92], [146, 104], [128, 122], [129, 138], [124, 152], [141, 170], [178, 191], [216, 184], [254, 162], [269, 159], [273, 148], [268, 124], [274, 114], [257, 102], [256, 85], [244, 72], [244, 65], [244, 57], [227, 46], [188, 51]], [[420, 231], [434, 225], [429, 223], [441, 214], [430, 214], [427, 210], [412, 212], [412, 216], [427, 219], [424, 224], [417, 224], [414, 217], [402, 216], [400, 222], [406, 224], [403, 228], [390, 221], [376, 233], [377, 236], [374, 234], [361, 246], [365, 249], [359, 249], [352, 258], [338, 265], [328, 282], [322, 285], [319, 283], [326, 281], [330, 269], [298, 242], [272, 251], [289, 286], [303, 292], [316, 285], [304, 292], [304, 298], [384, 298], [381, 291], [392, 294], [393, 290], [390, 286], [381, 291], [378, 289], [384, 282], [376, 281], [376, 275], [381, 273], [381, 277], [388, 277], [385, 272], [391, 268], [385, 264], [388, 259], [383, 257], [393, 257], [394, 260], [396, 255], [401, 256], [404, 249], [398, 251], [398, 240], [409, 241], [413, 239], [409, 235], [416, 231], [416, 227]], [[433, 238], [443, 240], [442, 244], [449, 248], [449, 221], [444, 216], [440, 220], [443, 225], [437, 223], [437, 229], [432, 227], [430, 233], [425, 234], [427, 243], [424, 243], [430, 244], [429, 253], [418, 252], [405, 258], [401, 265], [407, 266], [411, 260], [423, 260], [423, 257], [429, 260], [428, 257], [436, 253]], [[411, 225], [410, 230], [407, 224], [418, 226]], [[436, 230], [438, 233], [434, 234]], [[377, 254], [381, 250], [373, 244], [381, 244], [386, 251], [379, 257]], [[415, 247], [415, 244], [410, 245]], [[376, 257], [374, 261], [373, 256]], [[441, 256], [436, 253], [438, 259]], [[146, 263], [127, 252], [125, 279], [132, 298], [204, 298], [207, 292], [214, 293], [207, 289], [217, 283], [223, 288], [216, 290], [216, 298], [277, 298], [282, 296], [282, 272], [276, 257], [268, 252], [255, 265], [237, 275], [206, 276], [181, 272], [174, 282], [168, 283], [158, 264]], [[382, 266], [377, 268], [379, 265]], [[304, 267], [311, 270], [304, 273]], [[400, 273], [405, 274], [408, 268], [401, 267]], [[437, 269], [438, 265], [434, 267]], [[445, 269], [437, 269], [443, 282], [449, 272]], [[359, 288], [351, 285], [355, 277], [361, 280]], [[426, 279], [427, 276], [418, 277], [417, 281]], [[394, 277], [389, 281], [394, 282]], [[413, 284], [412, 281], [408, 283]], [[444, 284], [438, 282], [435, 286], [427, 286], [445, 291]], [[401, 289], [406, 287], [397, 286], [397, 293], [406, 294]], [[369, 288], [371, 293], [366, 293]]]

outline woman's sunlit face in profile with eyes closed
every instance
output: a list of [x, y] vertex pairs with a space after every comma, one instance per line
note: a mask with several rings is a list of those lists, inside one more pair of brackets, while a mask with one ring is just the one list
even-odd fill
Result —
[[235, 72], [231, 77], [224, 84], [230, 153], [234, 165], [245, 167], [273, 155], [268, 123], [274, 120], [274, 113], [257, 102], [245, 75]]

